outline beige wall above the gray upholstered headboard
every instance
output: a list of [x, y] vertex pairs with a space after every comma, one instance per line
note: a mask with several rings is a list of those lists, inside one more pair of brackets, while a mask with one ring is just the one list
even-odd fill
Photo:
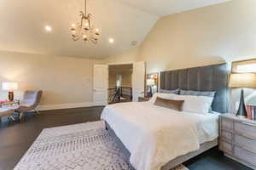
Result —
[[233, 0], [161, 18], [138, 50], [147, 71], [256, 56], [256, 1]]

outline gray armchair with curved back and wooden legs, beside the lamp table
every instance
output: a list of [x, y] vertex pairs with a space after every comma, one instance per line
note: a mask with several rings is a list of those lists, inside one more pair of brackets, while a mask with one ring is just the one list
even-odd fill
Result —
[[22, 118], [23, 114], [27, 111], [35, 111], [39, 114], [39, 111], [36, 109], [36, 107], [39, 105], [41, 96], [43, 92], [42, 90], [38, 91], [31, 91], [27, 90], [24, 93], [23, 100], [20, 103], [20, 106], [15, 109], [15, 112], [18, 112], [20, 114], [20, 119]]

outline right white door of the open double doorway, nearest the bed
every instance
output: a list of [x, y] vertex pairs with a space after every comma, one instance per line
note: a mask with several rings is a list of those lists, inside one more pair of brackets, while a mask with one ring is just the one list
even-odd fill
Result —
[[132, 72], [132, 100], [137, 102], [139, 96], [144, 96], [145, 91], [145, 62], [133, 64]]

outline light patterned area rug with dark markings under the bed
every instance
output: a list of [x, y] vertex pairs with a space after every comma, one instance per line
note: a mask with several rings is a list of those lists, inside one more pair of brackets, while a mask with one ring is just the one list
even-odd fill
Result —
[[104, 122], [87, 122], [44, 129], [15, 170], [135, 170], [128, 154]]

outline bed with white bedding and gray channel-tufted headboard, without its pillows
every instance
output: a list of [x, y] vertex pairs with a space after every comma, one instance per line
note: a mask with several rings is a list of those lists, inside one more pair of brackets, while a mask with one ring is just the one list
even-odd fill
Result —
[[[226, 64], [160, 73], [160, 89], [215, 91], [212, 111], [227, 112]], [[102, 120], [137, 170], [167, 170], [218, 144], [218, 113], [194, 114], [152, 102], [108, 105]]]

